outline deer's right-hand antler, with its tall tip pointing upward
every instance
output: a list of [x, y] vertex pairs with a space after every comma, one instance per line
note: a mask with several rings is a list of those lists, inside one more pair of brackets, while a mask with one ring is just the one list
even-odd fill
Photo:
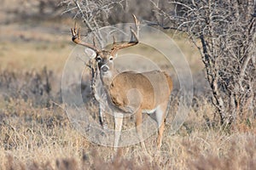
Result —
[[[121, 43], [121, 44], [116, 44], [115, 39], [113, 37], [113, 48], [111, 48], [112, 51], [116, 52], [119, 49], [122, 48], [128, 48], [131, 47], [133, 45], [136, 45], [139, 41], [138, 41], [138, 31], [139, 31], [139, 21], [137, 20], [136, 16], [134, 14], [132, 14], [134, 22], [135, 22], [135, 27], [136, 27], [136, 32], [131, 28], [131, 40], [130, 42], [125, 42], [125, 43]], [[135, 41], [132, 40], [132, 37], [135, 38]]]

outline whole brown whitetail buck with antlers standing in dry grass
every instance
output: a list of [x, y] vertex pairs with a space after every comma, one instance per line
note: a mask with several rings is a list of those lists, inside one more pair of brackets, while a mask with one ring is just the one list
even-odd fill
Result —
[[[76, 26], [72, 31], [73, 42], [92, 49], [96, 53], [98, 69], [102, 86], [107, 94], [108, 105], [113, 111], [115, 123], [114, 147], [118, 146], [120, 131], [123, 123], [123, 114], [135, 113], [136, 127], [141, 144], [145, 148], [142, 140], [141, 125], [143, 113], [148, 113], [158, 125], [157, 146], [160, 148], [162, 136], [165, 128], [166, 110], [168, 108], [170, 95], [172, 92], [172, 79], [163, 71], [148, 71], [138, 73], [135, 71], [119, 72], [113, 65], [113, 58], [119, 49], [128, 48], [138, 43], [138, 21], [135, 15], [135, 26], [137, 31], [131, 29], [131, 41], [117, 44], [113, 38], [113, 47], [110, 50], [99, 49], [95, 42], [92, 44], [82, 42], [80, 33]], [[135, 40], [132, 40], [132, 37]]]

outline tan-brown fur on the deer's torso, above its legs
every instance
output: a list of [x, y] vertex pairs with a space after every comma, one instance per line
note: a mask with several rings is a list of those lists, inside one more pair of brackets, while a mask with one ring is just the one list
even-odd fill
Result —
[[[102, 80], [104, 82], [104, 78]], [[153, 110], [156, 105], [168, 100], [172, 91], [171, 77], [160, 71], [143, 73], [126, 71], [114, 75], [111, 82], [104, 82], [104, 84], [111, 102], [120, 109], [129, 105], [127, 94], [133, 88], [141, 94], [141, 110]], [[125, 109], [123, 111], [125, 112]]]

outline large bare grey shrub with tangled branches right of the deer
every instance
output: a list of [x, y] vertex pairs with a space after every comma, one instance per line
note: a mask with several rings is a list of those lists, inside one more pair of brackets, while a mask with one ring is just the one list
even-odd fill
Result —
[[[174, 13], [155, 5], [201, 52], [221, 123], [255, 119], [255, 1], [176, 1]], [[198, 42], [198, 39], [200, 42]]]

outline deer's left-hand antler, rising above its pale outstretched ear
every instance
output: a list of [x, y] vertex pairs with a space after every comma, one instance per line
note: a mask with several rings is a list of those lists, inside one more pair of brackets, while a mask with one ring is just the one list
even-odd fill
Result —
[[95, 38], [93, 38], [93, 45], [90, 43], [82, 42], [81, 41], [81, 35], [80, 35], [80, 28], [79, 30], [77, 29], [77, 23], [75, 22], [73, 29], [71, 28], [71, 33], [72, 33], [72, 41], [79, 44], [83, 45], [84, 47], [91, 48], [94, 50], [96, 53], [100, 52], [101, 50], [96, 47], [95, 43]]

